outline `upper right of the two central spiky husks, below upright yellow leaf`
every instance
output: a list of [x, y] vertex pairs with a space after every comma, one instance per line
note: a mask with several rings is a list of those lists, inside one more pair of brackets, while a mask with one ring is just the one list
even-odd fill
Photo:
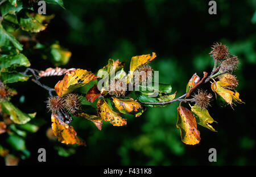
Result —
[[153, 71], [154, 70], [150, 65], [139, 66], [134, 72], [135, 85], [139, 85], [139, 83], [142, 82], [152, 81]]

